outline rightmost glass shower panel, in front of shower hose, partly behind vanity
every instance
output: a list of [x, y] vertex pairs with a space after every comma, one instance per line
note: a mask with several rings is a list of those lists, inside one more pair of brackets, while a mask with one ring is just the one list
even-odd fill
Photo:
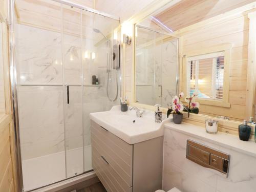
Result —
[[[113, 61], [113, 52], [116, 52], [116, 58], [119, 54], [116, 50], [120, 44], [118, 27], [118, 20], [82, 10], [84, 172], [92, 169], [90, 113], [107, 111], [119, 104], [119, 99], [115, 98], [120, 97], [120, 70], [118, 67], [113, 69], [118, 60]], [[93, 82], [93, 76], [98, 84]]]

